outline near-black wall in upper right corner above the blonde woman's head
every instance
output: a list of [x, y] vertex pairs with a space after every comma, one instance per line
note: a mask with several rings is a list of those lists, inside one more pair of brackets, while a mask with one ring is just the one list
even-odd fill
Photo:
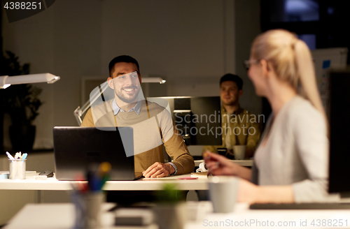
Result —
[[[276, 22], [284, 6], [276, 4], [280, 0], [261, 0], [261, 30], [287, 29], [295, 34], [315, 34], [316, 49], [328, 47], [347, 47], [350, 50], [349, 1], [318, 0], [319, 20]], [[350, 63], [348, 52], [348, 64]]]

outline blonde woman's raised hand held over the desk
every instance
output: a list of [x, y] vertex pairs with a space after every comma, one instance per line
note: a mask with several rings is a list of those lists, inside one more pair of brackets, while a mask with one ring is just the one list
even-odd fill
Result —
[[204, 161], [209, 173], [212, 175], [239, 175], [239, 165], [228, 160], [225, 156], [204, 152]]

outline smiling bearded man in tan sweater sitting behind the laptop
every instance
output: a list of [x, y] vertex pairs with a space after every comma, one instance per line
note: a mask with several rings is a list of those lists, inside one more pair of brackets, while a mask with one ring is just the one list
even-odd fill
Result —
[[[112, 59], [108, 84], [114, 98], [92, 106], [81, 126], [132, 126], [136, 176], [154, 178], [193, 172], [193, 156], [175, 128], [171, 114], [144, 99], [137, 60], [125, 55]], [[165, 163], [162, 143], [172, 162]]]

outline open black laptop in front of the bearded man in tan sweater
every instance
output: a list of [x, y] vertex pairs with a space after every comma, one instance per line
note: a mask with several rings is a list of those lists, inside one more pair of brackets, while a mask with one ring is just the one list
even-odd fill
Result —
[[141, 175], [134, 171], [133, 139], [132, 127], [56, 126], [55, 177], [73, 181], [78, 174], [85, 177], [88, 166], [108, 161], [111, 180], [138, 179]]

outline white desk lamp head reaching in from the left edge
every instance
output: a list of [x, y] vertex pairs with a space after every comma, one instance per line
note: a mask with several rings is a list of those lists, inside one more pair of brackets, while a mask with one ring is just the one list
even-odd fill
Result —
[[10, 77], [8, 75], [3, 75], [0, 76], [0, 89], [6, 89], [7, 87], [10, 87], [11, 84], [31, 84], [36, 82], [47, 82], [48, 84], [52, 84], [59, 79], [59, 76], [50, 73], [15, 75]]

